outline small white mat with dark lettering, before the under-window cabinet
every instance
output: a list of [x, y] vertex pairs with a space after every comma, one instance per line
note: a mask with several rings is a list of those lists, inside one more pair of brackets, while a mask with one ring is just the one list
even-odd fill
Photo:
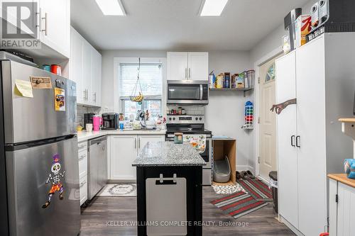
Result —
[[107, 184], [97, 196], [137, 196], [136, 184]]

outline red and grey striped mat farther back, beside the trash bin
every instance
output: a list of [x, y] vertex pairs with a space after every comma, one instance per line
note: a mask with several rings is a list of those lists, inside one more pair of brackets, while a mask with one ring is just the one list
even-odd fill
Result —
[[244, 188], [244, 190], [256, 200], [273, 201], [271, 190], [266, 184], [263, 183], [263, 181], [258, 179], [239, 179], [237, 181]]

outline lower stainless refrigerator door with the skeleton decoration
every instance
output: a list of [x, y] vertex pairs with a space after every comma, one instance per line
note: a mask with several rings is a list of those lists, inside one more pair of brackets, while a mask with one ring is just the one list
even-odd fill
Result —
[[6, 175], [11, 236], [80, 232], [77, 137], [6, 152]]

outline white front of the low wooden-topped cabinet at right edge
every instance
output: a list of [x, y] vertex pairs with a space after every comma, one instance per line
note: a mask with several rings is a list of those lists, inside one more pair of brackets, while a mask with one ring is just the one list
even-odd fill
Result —
[[355, 235], [355, 188], [329, 179], [329, 235]]

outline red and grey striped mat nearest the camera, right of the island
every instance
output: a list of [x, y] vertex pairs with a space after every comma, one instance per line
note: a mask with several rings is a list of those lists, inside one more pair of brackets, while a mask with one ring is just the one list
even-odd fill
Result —
[[219, 198], [211, 201], [211, 203], [223, 210], [224, 213], [231, 215], [234, 219], [268, 205], [265, 201], [256, 201], [252, 196], [243, 191]]

